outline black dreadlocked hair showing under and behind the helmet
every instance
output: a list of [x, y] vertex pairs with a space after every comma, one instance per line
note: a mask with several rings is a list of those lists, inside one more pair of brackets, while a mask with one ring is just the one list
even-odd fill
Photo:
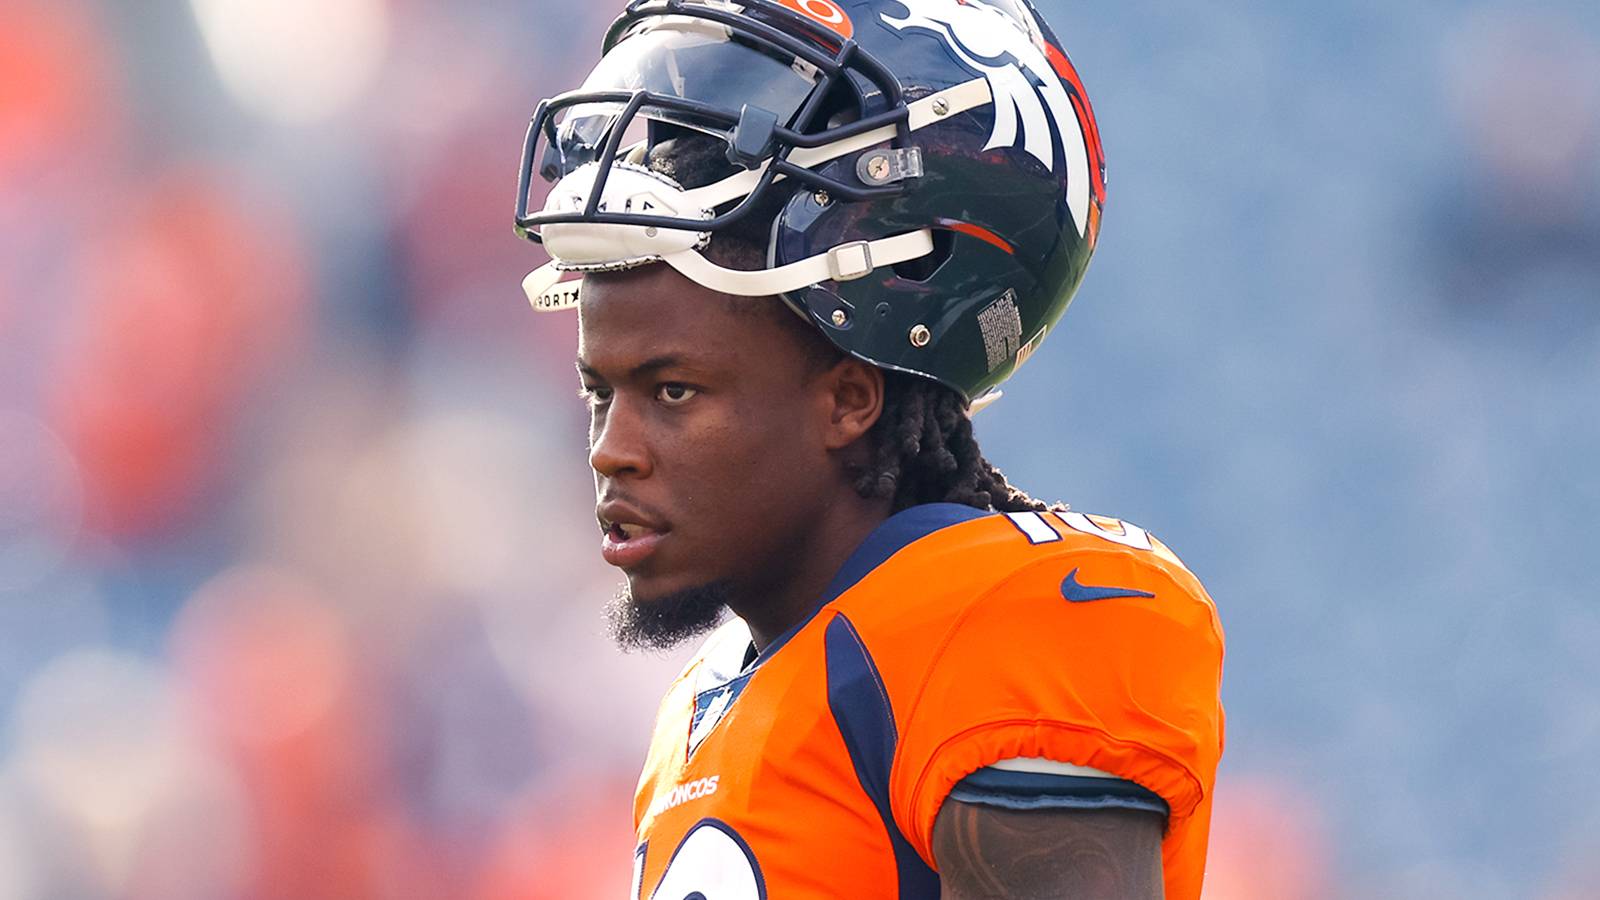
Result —
[[[686, 189], [712, 184], [736, 170], [726, 159], [726, 144], [696, 133], [683, 133], [656, 144], [650, 168], [674, 178]], [[774, 191], [760, 208], [712, 235], [707, 255], [741, 269], [766, 264], [768, 232], [787, 194]], [[768, 298], [730, 298], [736, 309], [760, 309], [779, 315], [808, 343], [813, 360], [832, 365], [843, 359], [822, 333], [789, 307]], [[920, 375], [883, 373], [883, 413], [867, 432], [870, 460], [850, 471], [853, 487], [864, 500], [890, 500], [899, 512], [923, 503], [960, 503], [998, 512], [1064, 509], [1034, 500], [1006, 480], [984, 460], [973, 434], [966, 402], [952, 388]]]

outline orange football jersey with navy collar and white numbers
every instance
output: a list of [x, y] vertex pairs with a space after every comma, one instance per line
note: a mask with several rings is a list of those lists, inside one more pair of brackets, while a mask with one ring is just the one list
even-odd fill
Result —
[[754, 661], [749, 641], [723, 626], [662, 700], [635, 898], [938, 898], [941, 804], [1011, 759], [1165, 801], [1166, 897], [1200, 897], [1222, 631], [1147, 532], [918, 506], [862, 543], [816, 615]]

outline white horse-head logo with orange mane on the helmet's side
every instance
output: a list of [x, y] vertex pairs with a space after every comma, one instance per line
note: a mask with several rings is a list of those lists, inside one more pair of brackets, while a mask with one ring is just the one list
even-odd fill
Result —
[[1067, 208], [1083, 237], [1090, 223], [1090, 151], [1083, 122], [1051, 66], [1045, 40], [1030, 27], [1027, 11], [1006, 0], [894, 2], [906, 6], [907, 16], [896, 19], [885, 13], [886, 26], [939, 35], [962, 62], [989, 80], [995, 127], [986, 151], [1014, 147], [1021, 139], [1029, 155], [1054, 171], [1059, 135], [1067, 167]]

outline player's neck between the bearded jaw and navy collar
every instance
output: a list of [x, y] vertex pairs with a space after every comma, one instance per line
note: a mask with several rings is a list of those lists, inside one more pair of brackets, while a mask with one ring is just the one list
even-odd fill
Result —
[[816, 612], [829, 581], [891, 509], [888, 500], [862, 500], [854, 492], [826, 504], [790, 543], [782, 565], [773, 567], [762, 583], [738, 591], [728, 605], [750, 626], [757, 652]]

